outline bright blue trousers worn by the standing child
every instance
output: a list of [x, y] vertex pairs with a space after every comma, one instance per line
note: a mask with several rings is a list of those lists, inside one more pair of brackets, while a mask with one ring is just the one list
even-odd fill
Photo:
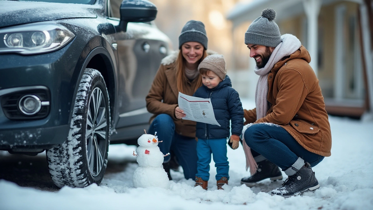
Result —
[[202, 180], [210, 178], [211, 153], [216, 167], [216, 180], [227, 177], [229, 180], [229, 162], [227, 157], [227, 139], [198, 139], [197, 142], [197, 174]]

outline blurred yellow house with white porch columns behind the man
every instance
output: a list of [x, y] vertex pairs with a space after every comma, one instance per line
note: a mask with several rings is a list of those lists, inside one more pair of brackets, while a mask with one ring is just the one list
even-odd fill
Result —
[[[310, 52], [310, 65], [319, 78], [327, 112], [351, 117], [372, 113], [373, 1], [254, 0], [237, 3], [227, 16], [233, 23], [232, 58], [235, 59], [232, 68], [242, 68], [245, 58], [241, 55], [248, 55], [248, 50], [243, 52], [241, 47], [245, 33], [242, 28], [246, 30], [247, 21], [259, 17], [267, 7], [275, 9], [280, 33], [297, 36]], [[244, 61], [239, 61], [241, 59]], [[252, 59], [248, 72], [235, 71], [239, 76], [233, 83], [246, 80], [249, 91], [254, 92], [256, 80], [252, 77], [257, 78], [253, 74], [254, 65]], [[247, 95], [252, 97], [253, 93]]]

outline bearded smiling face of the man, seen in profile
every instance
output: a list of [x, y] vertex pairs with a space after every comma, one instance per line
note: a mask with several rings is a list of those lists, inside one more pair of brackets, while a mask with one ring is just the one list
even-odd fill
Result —
[[255, 59], [258, 68], [266, 66], [275, 49], [275, 47], [266, 47], [257, 44], [247, 44], [247, 48], [250, 49], [250, 57]]

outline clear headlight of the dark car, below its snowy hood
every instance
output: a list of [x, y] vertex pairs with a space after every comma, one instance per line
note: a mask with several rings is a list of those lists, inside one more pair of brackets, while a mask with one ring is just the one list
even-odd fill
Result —
[[28, 24], [0, 30], [0, 53], [30, 55], [51, 52], [69, 43], [75, 35], [60, 24]]

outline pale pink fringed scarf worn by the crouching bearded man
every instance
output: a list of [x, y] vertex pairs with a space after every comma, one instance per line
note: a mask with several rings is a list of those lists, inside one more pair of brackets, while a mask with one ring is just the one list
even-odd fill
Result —
[[[279, 62], [283, 57], [289, 56], [296, 52], [301, 47], [301, 42], [297, 37], [291, 34], [283, 34], [281, 36], [281, 43], [273, 50], [272, 55], [269, 58], [269, 61], [263, 68], [258, 68], [257, 66], [254, 69], [254, 72], [259, 75], [255, 90], [255, 103], [256, 103], [256, 112], [257, 120], [266, 116], [268, 111], [268, 74], [272, 70], [273, 66]], [[244, 126], [242, 130], [242, 145], [245, 151], [246, 157], [246, 170], [250, 167], [250, 174], [254, 175], [258, 170], [258, 165], [254, 160], [253, 154], [251, 154], [251, 149], [247, 146], [244, 133], [245, 130], [250, 127], [252, 123]]]

